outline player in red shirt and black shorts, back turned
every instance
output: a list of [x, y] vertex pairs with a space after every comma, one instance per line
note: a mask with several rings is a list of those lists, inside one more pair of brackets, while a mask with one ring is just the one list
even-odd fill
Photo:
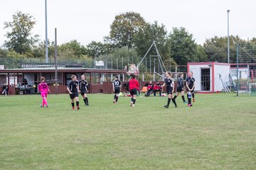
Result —
[[131, 74], [132, 79], [129, 80], [129, 93], [131, 94], [131, 105], [135, 106], [137, 91], [139, 91], [139, 81], [136, 79], [136, 75]]

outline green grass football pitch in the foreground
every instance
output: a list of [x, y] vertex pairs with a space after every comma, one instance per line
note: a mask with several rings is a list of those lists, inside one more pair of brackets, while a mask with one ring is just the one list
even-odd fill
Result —
[[256, 169], [256, 98], [196, 94], [188, 108], [167, 98], [89, 94], [0, 96], [0, 169]]

